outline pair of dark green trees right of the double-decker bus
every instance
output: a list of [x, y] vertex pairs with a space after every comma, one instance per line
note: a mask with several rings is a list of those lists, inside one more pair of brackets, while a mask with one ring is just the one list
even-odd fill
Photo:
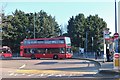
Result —
[[[103, 44], [99, 43], [103, 39], [103, 29], [107, 27], [102, 18], [95, 16], [88, 16], [85, 18], [83, 14], [72, 16], [68, 21], [67, 32], [72, 39], [72, 45], [86, 49], [86, 33], [87, 33], [87, 49], [88, 51], [96, 51], [102, 49]], [[93, 48], [92, 48], [93, 37]]]

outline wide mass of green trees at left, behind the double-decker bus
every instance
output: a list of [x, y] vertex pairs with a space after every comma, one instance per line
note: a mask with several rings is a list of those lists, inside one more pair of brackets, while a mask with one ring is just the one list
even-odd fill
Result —
[[20, 42], [25, 38], [56, 37], [60, 34], [55, 17], [44, 11], [24, 13], [16, 10], [13, 15], [3, 16], [3, 45], [10, 46], [13, 52], [19, 52]]

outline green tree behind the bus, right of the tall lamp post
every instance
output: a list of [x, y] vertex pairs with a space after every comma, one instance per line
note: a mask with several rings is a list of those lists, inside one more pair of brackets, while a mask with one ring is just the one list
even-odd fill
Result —
[[51, 15], [48, 16], [47, 13], [42, 10], [35, 15], [35, 29], [36, 38], [55, 37], [60, 34], [60, 29], [55, 21], [55, 17], [52, 18]]

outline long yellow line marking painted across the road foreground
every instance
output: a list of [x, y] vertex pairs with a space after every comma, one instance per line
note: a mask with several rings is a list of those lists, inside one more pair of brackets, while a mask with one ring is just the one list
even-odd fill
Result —
[[60, 70], [17, 70], [17, 73], [26, 74], [96, 74], [97, 72], [74, 72], [74, 71], [60, 71]]

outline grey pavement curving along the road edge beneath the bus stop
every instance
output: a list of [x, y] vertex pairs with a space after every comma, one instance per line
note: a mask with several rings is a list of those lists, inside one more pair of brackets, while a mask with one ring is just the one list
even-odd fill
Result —
[[106, 77], [116, 77], [116, 78], [120, 78], [120, 69], [116, 70], [114, 69], [114, 62], [107, 62], [104, 61], [104, 58], [102, 56], [100, 56], [98, 59], [95, 59], [93, 54], [89, 54], [87, 55], [87, 57], [85, 57], [83, 54], [76, 54], [73, 56], [73, 58], [80, 58], [82, 60], [88, 60], [93, 62], [99, 69], [97, 76], [102, 77], [102, 76], [106, 76]]

